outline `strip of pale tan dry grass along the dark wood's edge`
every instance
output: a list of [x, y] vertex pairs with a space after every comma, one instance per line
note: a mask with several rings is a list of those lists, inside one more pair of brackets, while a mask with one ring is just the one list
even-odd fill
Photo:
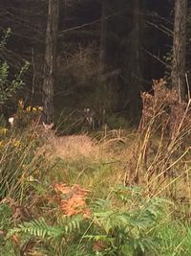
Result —
[[[122, 161], [131, 151], [135, 134], [127, 130], [109, 130], [96, 138], [88, 134], [56, 136], [52, 130], [42, 133], [45, 145], [39, 151], [49, 157], [60, 157], [76, 161], [89, 158], [92, 161]], [[128, 147], [127, 147], [128, 146]]]

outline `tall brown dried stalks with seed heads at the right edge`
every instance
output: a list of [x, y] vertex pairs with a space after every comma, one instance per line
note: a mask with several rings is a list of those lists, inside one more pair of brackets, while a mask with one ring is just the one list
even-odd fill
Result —
[[125, 184], [190, 203], [191, 100], [180, 102], [165, 82], [155, 81], [154, 93], [142, 94], [143, 111], [135, 147], [126, 166]]

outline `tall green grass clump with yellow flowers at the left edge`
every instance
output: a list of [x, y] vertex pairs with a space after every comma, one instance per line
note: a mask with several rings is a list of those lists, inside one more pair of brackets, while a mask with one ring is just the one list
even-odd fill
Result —
[[38, 136], [30, 130], [8, 130], [6, 136], [0, 135], [0, 197], [22, 200], [32, 182], [38, 182], [51, 170], [54, 163], [49, 163], [40, 153], [40, 143]]

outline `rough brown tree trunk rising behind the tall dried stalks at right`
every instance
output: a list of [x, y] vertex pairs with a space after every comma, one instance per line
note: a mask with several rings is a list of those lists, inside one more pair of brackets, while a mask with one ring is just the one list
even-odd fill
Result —
[[185, 98], [185, 47], [186, 47], [187, 0], [175, 0], [172, 86]]

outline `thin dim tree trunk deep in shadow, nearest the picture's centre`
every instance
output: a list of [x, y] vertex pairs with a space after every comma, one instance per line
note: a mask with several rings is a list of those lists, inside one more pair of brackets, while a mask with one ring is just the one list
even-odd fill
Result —
[[103, 79], [106, 64], [106, 46], [107, 46], [107, 0], [102, 0], [101, 7], [101, 36], [100, 36], [100, 52], [99, 52], [99, 71], [100, 78]]

